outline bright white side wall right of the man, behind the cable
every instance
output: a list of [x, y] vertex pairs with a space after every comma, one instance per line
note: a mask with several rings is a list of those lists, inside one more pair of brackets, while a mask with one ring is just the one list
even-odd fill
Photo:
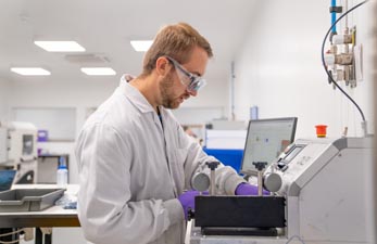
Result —
[[[329, 3], [311, 0], [259, 3], [260, 9], [236, 60], [238, 119], [248, 119], [249, 107], [257, 105], [261, 118], [298, 116], [297, 137], [314, 137], [316, 124], [328, 125], [329, 137], [340, 137], [345, 126], [349, 136], [362, 134], [360, 114], [328, 85], [321, 62], [322, 42], [330, 26]], [[350, 25], [357, 25], [357, 41], [363, 42], [365, 53], [370, 44], [367, 8], [364, 5], [351, 13], [349, 21]], [[365, 72], [370, 62], [365, 59], [364, 65]], [[364, 78], [356, 89], [345, 90], [359, 102], [370, 123], [370, 79]]]

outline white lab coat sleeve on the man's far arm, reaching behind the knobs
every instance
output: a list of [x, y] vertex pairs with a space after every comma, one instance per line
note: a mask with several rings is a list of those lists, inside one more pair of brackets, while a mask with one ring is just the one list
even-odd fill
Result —
[[[198, 172], [204, 172], [210, 176], [210, 169], [206, 162], [219, 162], [213, 156], [209, 156], [198, 142], [185, 133], [181, 127], [178, 128], [179, 143], [187, 149], [187, 157], [184, 164], [187, 189], [192, 189], [191, 180]], [[235, 195], [236, 188], [239, 183], [246, 182], [234, 168], [221, 164], [216, 168], [216, 194]]]

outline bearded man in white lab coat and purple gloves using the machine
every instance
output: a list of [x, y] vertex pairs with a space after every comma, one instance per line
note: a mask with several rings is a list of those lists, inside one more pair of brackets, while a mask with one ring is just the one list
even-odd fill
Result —
[[[210, 43], [188, 24], [160, 30], [144, 55], [142, 74], [124, 80], [86, 121], [77, 141], [78, 216], [96, 244], [179, 244], [194, 208], [191, 179], [209, 172], [208, 156], [169, 108], [205, 85]], [[223, 165], [217, 194], [255, 189]], [[187, 190], [187, 191], [186, 191]]]

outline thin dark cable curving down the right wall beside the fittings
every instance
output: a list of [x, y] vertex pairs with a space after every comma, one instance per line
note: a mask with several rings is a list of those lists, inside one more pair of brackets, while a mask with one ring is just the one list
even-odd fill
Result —
[[322, 63], [324, 65], [324, 68], [325, 68], [325, 72], [328, 76], [328, 78], [331, 80], [331, 82], [356, 106], [357, 111], [360, 112], [362, 118], [363, 118], [363, 121], [365, 121], [365, 116], [364, 116], [364, 113], [362, 111], [362, 108], [360, 108], [360, 106], [357, 105], [357, 103], [337, 84], [337, 81], [334, 80], [331, 74], [329, 73], [329, 70], [327, 69], [327, 66], [326, 66], [326, 62], [325, 62], [325, 43], [326, 43], [326, 40], [328, 38], [328, 35], [331, 33], [332, 30], [332, 27], [335, 25], [337, 25], [337, 23], [342, 20], [345, 15], [348, 15], [350, 12], [352, 12], [353, 10], [357, 9], [359, 7], [363, 5], [364, 3], [366, 3], [368, 0], [365, 0], [356, 5], [354, 5], [353, 8], [351, 8], [350, 10], [348, 10], [345, 13], [343, 13], [332, 25], [331, 27], [328, 29], [325, 38], [324, 38], [324, 42], [322, 43]]

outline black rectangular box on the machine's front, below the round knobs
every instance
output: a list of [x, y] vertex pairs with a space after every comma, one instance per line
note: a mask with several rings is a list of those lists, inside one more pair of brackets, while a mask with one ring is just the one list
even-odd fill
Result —
[[194, 223], [203, 234], [276, 235], [276, 228], [286, 227], [285, 206], [282, 196], [200, 195]]

